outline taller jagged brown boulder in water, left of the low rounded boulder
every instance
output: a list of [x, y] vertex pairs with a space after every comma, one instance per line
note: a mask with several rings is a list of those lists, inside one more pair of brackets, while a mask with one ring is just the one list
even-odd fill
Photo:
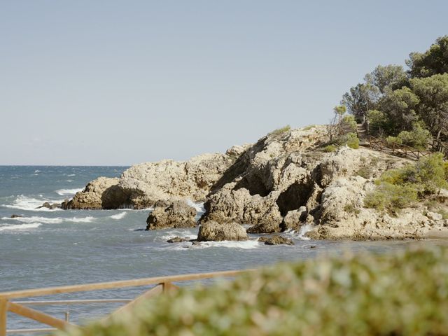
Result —
[[186, 202], [174, 201], [168, 207], [157, 207], [146, 220], [146, 230], [195, 228], [196, 209]]

